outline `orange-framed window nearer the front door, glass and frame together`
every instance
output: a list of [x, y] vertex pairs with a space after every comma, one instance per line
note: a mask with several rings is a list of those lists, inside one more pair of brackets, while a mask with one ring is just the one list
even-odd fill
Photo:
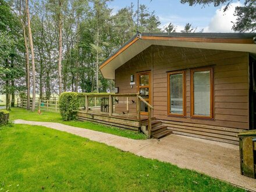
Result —
[[168, 115], [185, 116], [185, 71], [168, 73]]

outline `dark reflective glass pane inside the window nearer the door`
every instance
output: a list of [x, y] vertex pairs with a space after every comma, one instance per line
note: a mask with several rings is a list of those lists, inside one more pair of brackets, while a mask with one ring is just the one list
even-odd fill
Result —
[[170, 113], [183, 114], [183, 74], [170, 74]]

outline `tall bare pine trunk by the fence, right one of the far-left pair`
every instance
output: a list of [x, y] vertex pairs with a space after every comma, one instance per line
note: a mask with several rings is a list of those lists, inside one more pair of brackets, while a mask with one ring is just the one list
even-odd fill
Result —
[[[31, 51], [31, 63], [32, 63], [32, 74], [33, 74], [33, 100], [31, 111], [35, 111], [35, 57], [34, 57], [34, 45], [30, 27], [30, 16], [29, 16], [29, 0], [26, 0], [26, 12], [27, 12], [27, 28], [29, 30], [29, 42]], [[29, 102], [29, 101], [28, 101]]]

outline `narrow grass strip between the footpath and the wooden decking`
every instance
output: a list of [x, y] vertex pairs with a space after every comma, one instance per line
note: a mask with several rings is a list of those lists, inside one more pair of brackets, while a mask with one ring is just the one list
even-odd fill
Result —
[[38, 115], [37, 112], [26, 111], [25, 109], [22, 109], [22, 108], [12, 108], [12, 111], [10, 112], [10, 119], [34, 120], [34, 121], [41, 121], [41, 122], [56, 122], [56, 123], [63, 123], [65, 125], [70, 125], [74, 127], [81, 127], [84, 129], [91, 129], [95, 131], [101, 131], [104, 133], [111, 133], [117, 136], [128, 137], [133, 139], [147, 138], [145, 134], [138, 133], [137, 131], [119, 129], [116, 127], [104, 126], [104, 125], [99, 125], [91, 122], [80, 122], [76, 120], [63, 121], [61, 119], [61, 115], [55, 112], [42, 111], [42, 114]]

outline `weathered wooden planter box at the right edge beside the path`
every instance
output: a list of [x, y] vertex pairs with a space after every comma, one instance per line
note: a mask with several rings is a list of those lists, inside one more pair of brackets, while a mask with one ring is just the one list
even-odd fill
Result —
[[243, 131], [239, 137], [241, 175], [256, 178], [256, 130]]

